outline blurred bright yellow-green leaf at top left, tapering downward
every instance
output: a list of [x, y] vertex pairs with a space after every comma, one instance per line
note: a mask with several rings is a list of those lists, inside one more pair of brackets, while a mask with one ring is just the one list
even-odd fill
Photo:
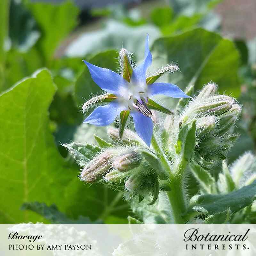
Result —
[[[71, 2], [63, 4], [29, 3], [28, 8], [33, 14], [42, 36], [38, 41], [46, 61], [52, 59], [56, 48], [77, 25], [78, 8]], [[42, 15], [42, 14], [47, 15]]]

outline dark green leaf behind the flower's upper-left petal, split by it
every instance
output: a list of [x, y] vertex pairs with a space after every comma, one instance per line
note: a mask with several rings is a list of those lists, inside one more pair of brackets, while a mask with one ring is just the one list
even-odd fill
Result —
[[[118, 63], [116, 62], [117, 58], [118, 53], [116, 51], [108, 50], [106, 52], [98, 53], [88, 61], [101, 68], [109, 68], [116, 71], [119, 68]], [[93, 82], [88, 68], [82, 61], [81, 66], [84, 66], [84, 71], [77, 78], [74, 90], [77, 106], [81, 106], [84, 101], [91, 99], [92, 95], [102, 94], [102, 90]]]

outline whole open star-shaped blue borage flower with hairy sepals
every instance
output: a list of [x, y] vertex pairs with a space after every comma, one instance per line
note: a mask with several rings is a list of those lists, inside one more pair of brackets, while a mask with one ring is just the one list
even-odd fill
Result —
[[[168, 109], [158, 105], [150, 98], [156, 94], [162, 94], [172, 98], [189, 98], [178, 86], [169, 83], [152, 83], [165, 71], [172, 71], [169, 67], [158, 72], [155, 76], [146, 78], [146, 71], [152, 63], [152, 55], [148, 47], [148, 36], [145, 44], [145, 59], [143, 63], [132, 68], [129, 54], [125, 49], [120, 53], [123, 56], [121, 66], [123, 76], [107, 68], [100, 68], [84, 60], [93, 81], [108, 94], [89, 100], [91, 103], [109, 102], [108, 105], [95, 108], [86, 117], [84, 123], [97, 126], [106, 126], [115, 121], [120, 114], [120, 137], [128, 116], [131, 114], [135, 131], [140, 138], [150, 146], [153, 134], [153, 122], [151, 109], [156, 109], [167, 114], [173, 114]], [[121, 56], [121, 57], [122, 57]], [[176, 70], [178, 69], [177, 66]], [[173, 68], [175, 69], [175, 68]], [[86, 105], [86, 103], [85, 103]], [[169, 111], [169, 113], [168, 113]]]

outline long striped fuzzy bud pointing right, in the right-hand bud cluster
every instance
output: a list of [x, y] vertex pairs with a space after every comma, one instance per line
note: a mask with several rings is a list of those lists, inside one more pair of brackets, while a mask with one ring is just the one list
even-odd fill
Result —
[[220, 116], [232, 108], [233, 99], [225, 95], [217, 95], [204, 100], [195, 100], [188, 105], [183, 113], [181, 122], [184, 123], [193, 117], [200, 117], [208, 114]]

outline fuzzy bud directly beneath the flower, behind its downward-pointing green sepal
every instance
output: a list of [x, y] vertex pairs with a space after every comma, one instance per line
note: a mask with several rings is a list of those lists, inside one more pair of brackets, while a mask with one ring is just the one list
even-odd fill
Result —
[[107, 128], [108, 136], [114, 142], [121, 142], [125, 145], [143, 145], [144, 143], [140, 139], [140, 137], [129, 129], [124, 130], [123, 137], [120, 139], [119, 137], [119, 130], [114, 127]]

